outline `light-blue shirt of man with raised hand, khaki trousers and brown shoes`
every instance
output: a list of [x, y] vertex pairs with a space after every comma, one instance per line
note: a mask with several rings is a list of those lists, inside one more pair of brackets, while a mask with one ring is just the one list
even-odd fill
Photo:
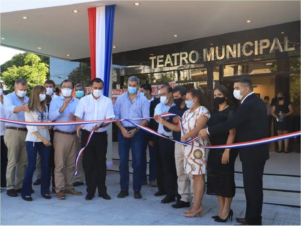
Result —
[[[65, 108], [65, 110], [60, 113], [60, 108], [64, 104], [64, 100], [66, 99], [65, 96], [60, 95], [59, 97], [55, 97], [51, 100], [50, 106], [49, 106], [49, 119], [50, 121], [55, 122], [68, 122], [69, 121], [69, 115], [72, 113], [75, 113], [75, 109], [77, 104], [79, 103], [79, 100], [76, 98], [71, 97], [68, 106]], [[75, 132], [75, 126], [56, 126], [54, 127], [54, 130], [60, 130], [64, 132]]]

